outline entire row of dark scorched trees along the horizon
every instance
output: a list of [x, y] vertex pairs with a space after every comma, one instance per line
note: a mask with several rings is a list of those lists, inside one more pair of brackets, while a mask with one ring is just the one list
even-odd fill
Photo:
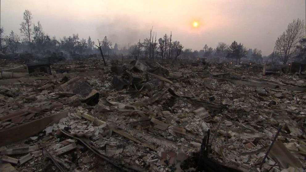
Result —
[[[32, 23], [31, 11], [25, 10], [23, 13], [23, 22], [20, 23], [20, 34], [22, 38], [14, 31], [9, 35], [3, 35], [4, 29], [0, 27], [0, 50], [16, 53], [18, 51], [29, 51], [35, 53], [45, 53], [46, 51], [66, 51], [69, 53], [92, 53], [98, 52], [95, 48], [95, 42], [89, 36], [88, 39], [80, 39], [78, 34], [64, 36], [59, 40], [55, 36], [52, 38], [43, 31], [40, 21], [37, 24]], [[268, 56], [272, 62], [282, 62], [286, 64], [290, 60], [306, 62], [306, 39], [305, 39], [305, 21], [296, 19], [289, 23], [286, 31], [278, 37], [275, 42], [274, 51]], [[165, 34], [157, 39], [153, 27], [150, 30], [150, 36], [141, 42], [134, 43], [131, 46], [123, 46], [120, 50], [118, 44], [113, 43], [105, 36], [101, 43], [101, 51], [109, 57], [120, 57], [124, 55], [134, 56], [136, 58], [148, 58], [152, 61], [164, 59], [175, 61], [180, 59], [196, 58], [219, 58], [238, 61], [247, 58], [253, 62], [261, 63], [263, 61], [262, 51], [255, 49], [246, 50], [242, 43], [236, 41], [230, 45], [220, 42], [217, 47], [212, 48], [207, 44], [200, 50], [185, 48], [178, 40], [173, 40], [172, 32], [170, 36]], [[130, 44], [130, 43], [129, 43]], [[98, 46], [97, 46], [98, 47]]]

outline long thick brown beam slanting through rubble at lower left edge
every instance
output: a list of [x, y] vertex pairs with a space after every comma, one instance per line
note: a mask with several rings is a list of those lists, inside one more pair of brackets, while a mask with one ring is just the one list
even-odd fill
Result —
[[21, 125], [14, 126], [9, 129], [0, 131], [0, 146], [4, 146], [16, 141], [21, 141], [31, 137], [46, 128], [52, 121], [57, 123], [61, 118], [67, 117], [68, 111], [50, 115], [41, 119], [33, 120]]

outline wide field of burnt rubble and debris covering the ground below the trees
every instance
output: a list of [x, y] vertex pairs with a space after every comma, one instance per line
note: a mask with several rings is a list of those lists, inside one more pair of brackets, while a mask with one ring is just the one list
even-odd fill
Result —
[[0, 171], [305, 169], [303, 73], [94, 57], [0, 64]]

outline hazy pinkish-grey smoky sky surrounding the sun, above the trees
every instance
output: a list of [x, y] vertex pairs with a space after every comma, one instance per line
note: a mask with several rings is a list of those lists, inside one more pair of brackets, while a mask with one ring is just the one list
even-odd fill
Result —
[[[119, 48], [157, 32], [179, 40], [185, 48], [234, 40], [263, 55], [273, 51], [277, 37], [295, 18], [305, 20], [305, 0], [1, 0], [0, 25], [5, 34], [19, 33], [24, 10], [57, 39], [78, 33], [103, 39]], [[192, 27], [197, 21], [199, 26]]]

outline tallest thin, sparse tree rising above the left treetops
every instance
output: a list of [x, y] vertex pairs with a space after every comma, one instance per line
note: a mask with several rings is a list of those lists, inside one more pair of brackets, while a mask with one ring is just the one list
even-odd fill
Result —
[[20, 23], [20, 33], [23, 34], [24, 36], [26, 36], [29, 39], [29, 47], [30, 47], [30, 51], [32, 52], [32, 48], [31, 48], [31, 33], [32, 33], [32, 29], [31, 29], [31, 25], [32, 25], [32, 13], [29, 10], [25, 10], [23, 12], [23, 22]]

